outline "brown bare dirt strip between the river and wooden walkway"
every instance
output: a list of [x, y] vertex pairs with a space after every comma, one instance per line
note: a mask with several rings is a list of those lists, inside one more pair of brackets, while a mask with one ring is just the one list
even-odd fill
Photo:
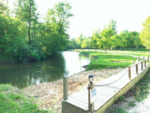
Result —
[[[68, 78], [68, 93], [73, 94], [88, 86], [88, 76], [94, 75], [94, 82], [101, 81], [109, 76], [113, 76], [124, 68], [103, 69], [81, 72]], [[63, 97], [63, 80], [34, 85], [23, 89], [31, 97], [36, 97], [39, 108], [61, 110], [61, 100]]]

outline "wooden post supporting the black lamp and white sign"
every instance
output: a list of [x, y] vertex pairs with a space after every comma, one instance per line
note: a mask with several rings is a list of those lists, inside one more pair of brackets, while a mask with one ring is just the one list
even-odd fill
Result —
[[94, 84], [89, 84], [88, 85], [88, 107], [89, 107], [90, 113], [94, 112], [94, 102], [91, 103], [91, 90], [92, 89], [94, 89]]

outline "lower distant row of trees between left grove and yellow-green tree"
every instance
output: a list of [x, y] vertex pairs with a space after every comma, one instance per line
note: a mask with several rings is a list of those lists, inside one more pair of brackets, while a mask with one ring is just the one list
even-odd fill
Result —
[[95, 48], [95, 49], [116, 49], [116, 48], [139, 48], [142, 46], [140, 33], [124, 30], [120, 34], [116, 31], [116, 21], [110, 20], [109, 24], [101, 31], [96, 30], [92, 36], [84, 37], [82, 34], [69, 41], [68, 48]]

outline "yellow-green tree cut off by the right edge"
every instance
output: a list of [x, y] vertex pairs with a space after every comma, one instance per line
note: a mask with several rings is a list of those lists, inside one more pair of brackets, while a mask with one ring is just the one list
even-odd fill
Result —
[[143, 29], [140, 33], [140, 39], [143, 46], [150, 49], [150, 16], [142, 24]]

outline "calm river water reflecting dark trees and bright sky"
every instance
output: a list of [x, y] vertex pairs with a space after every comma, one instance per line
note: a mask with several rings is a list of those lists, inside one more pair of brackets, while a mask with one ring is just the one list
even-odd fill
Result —
[[78, 52], [65, 51], [42, 61], [0, 64], [0, 84], [9, 83], [18, 88], [52, 82], [63, 76], [84, 71], [90, 58]]

